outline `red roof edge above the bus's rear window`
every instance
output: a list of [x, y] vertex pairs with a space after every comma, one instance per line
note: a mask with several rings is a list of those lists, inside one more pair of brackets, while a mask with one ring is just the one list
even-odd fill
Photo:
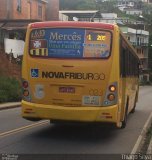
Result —
[[31, 23], [30, 28], [48, 28], [48, 27], [75, 27], [75, 28], [102, 28], [114, 30], [114, 24], [101, 23], [101, 22], [75, 22], [75, 21], [46, 21]]

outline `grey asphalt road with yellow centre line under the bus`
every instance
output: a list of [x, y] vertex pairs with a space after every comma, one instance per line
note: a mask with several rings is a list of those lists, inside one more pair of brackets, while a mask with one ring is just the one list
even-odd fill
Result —
[[20, 108], [0, 111], [0, 154], [131, 153], [152, 112], [152, 87], [140, 87], [136, 112], [125, 129], [93, 125], [53, 125], [21, 118]]

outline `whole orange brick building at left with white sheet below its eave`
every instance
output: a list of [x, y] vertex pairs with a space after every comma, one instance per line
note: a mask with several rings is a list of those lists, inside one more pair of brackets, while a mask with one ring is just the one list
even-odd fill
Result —
[[0, 50], [15, 57], [29, 23], [59, 19], [59, 0], [0, 0], [0, 6]]

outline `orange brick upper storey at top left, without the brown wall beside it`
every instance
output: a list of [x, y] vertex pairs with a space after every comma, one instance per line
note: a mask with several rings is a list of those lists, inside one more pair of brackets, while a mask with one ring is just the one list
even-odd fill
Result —
[[46, 0], [0, 0], [0, 19], [46, 20]]

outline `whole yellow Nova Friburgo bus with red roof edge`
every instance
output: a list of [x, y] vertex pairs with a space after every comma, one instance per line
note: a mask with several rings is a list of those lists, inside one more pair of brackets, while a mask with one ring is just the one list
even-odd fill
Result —
[[138, 99], [138, 65], [117, 25], [32, 23], [23, 56], [22, 117], [124, 128]]

